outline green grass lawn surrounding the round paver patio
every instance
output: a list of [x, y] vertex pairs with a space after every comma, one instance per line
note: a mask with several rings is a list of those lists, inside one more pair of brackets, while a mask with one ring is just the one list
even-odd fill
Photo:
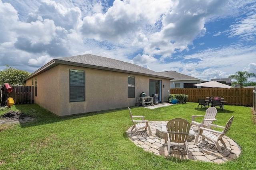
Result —
[[[157, 109], [131, 107], [133, 115], [144, 115], [149, 121], [167, 121], [191, 115], [204, 115], [197, 103], [177, 104]], [[113, 170], [252, 170], [256, 169], [256, 125], [252, 109], [225, 106], [218, 109], [215, 124], [225, 125], [234, 115], [226, 134], [242, 148], [232, 162], [214, 164], [193, 160], [165, 158], [136, 147], [126, 136], [132, 126], [127, 108], [57, 117], [33, 105], [14, 105], [12, 110], [36, 117], [22, 125], [0, 125], [0, 169], [113, 169]], [[7, 110], [1, 110], [0, 115]]]

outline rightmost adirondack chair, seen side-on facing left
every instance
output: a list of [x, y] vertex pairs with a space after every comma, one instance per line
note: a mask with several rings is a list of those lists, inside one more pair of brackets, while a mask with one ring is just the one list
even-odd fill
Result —
[[223, 131], [215, 131], [215, 130], [212, 130], [212, 129], [208, 129], [208, 128], [205, 128], [205, 127], [200, 127], [199, 130], [198, 130], [198, 133], [196, 135], [196, 141], [195, 143], [197, 144], [198, 143], [198, 138], [199, 138], [199, 135], [202, 136], [202, 140], [204, 140], [204, 138], [208, 139], [209, 141], [212, 141], [214, 143], [214, 145], [217, 147], [218, 151], [219, 152], [222, 152], [222, 149], [220, 147], [220, 144], [218, 143], [218, 141], [220, 141], [222, 143], [222, 145], [226, 147], [226, 144], [224, 143], [222, 137], [224, 137], [224, 135], [226, 134], [226, 132], [230, 129], [230, 126], [232, 124], [232, 121], [234, 119], [234, 116], [232, 116], [228, 122], [226, 123], [225, 127], [223, 126], [218, 126], [218, 125], [213, 125], [213, 124], [209, 124], [213, 127], [220, 127], [223, 129]]

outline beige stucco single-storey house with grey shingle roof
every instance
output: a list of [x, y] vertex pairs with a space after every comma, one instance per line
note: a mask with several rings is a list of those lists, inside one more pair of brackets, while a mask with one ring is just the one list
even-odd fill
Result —
[[168, 101], [170, 79], [136, 64], [86, 54], [53, 59], [25, 79], [34, 103], [65, 116], [135, 106], [137, 97]]

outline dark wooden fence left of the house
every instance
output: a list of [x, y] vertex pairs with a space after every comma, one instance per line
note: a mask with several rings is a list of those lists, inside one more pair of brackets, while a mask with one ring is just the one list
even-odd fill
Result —
[[7, 96], [13, 98], [15, 104], [33, 104], [34, 86], [12, 86], [12, 92]]

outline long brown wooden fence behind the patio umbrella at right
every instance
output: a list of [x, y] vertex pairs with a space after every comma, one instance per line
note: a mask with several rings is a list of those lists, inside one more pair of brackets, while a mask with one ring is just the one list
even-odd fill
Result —
[[254, 88], [172, 88], [170, 94], [187, 94], [188, 102], [217, 96], [224, 98], [227, 105], [249, 106], [254, 104]]

